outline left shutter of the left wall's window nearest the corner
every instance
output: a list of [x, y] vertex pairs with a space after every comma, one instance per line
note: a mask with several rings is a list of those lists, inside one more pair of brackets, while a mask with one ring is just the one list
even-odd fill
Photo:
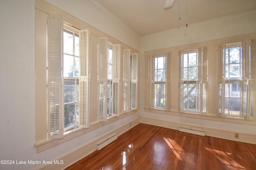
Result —
[[128, 113], [130, 111], [130, 49], [124, 49], [124, 95], [123, 95], [123, 111]]

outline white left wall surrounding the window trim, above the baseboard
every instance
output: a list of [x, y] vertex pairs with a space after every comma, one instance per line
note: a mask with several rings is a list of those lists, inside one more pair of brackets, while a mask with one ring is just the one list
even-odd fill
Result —
[[[92, 26], [140, 49], [140, 37], [86, 0], [49, 0], [55, 6]], [[73, 3], [78, 3], [73, 8]], [[72, 4], [71, 4], [72, 3]], [[85, 6], [82, 11], [82, 6]], [[110, 22], [112, 26], [106, 27]], [[138, 117], [139, 112], [100, 129], [36, 153], [35, 144], [35, 0], [0, 2], [0, 160], [14, 160], [15, 165], [0, 164], [0, 169], [34, 169], [41, 165], [17, 165], [17, 161], [53, 160]], [[114, 28], [114, 29], [113, 29]], [[130, 38], [127, 38], [130, 37]]]

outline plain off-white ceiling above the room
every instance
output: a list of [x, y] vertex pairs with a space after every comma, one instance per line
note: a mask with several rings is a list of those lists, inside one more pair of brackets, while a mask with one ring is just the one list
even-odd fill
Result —
[[[140, 36], [256, 9], [256, 0], [90, 0]], [[180, 20], [179, 20], [179, 17]]]

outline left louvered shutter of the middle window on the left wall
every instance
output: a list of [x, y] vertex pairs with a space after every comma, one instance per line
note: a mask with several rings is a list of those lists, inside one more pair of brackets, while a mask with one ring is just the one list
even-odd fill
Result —
[[98, 121], [107, 121], [108, 39], [98, 39]]

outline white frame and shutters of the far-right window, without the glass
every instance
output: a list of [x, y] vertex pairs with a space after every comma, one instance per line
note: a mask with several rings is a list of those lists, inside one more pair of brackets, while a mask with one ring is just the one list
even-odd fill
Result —
[[[237, 80], [226, 79], [226, 48], [241, 46], [241, 78]], [[243, 119], [256, 119], [256, 41], [248, 40], [238, 43], [229, 43], [218, 47], [218, 106], [217, 115], [221, 117], [242, 117]], [[240, 115], [225, 114], [225, 82], [240, 82]]]

